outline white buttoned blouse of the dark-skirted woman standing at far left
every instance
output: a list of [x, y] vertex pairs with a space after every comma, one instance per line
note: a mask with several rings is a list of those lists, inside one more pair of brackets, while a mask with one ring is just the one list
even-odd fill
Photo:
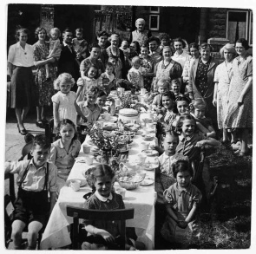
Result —
[[16, 42], [10, 46], [8, 62], [18, 67], [32, 67], [34, 66], [33, 52], [33, 46], [30, 44], [26, 43], [23, 49], [20, 42]]

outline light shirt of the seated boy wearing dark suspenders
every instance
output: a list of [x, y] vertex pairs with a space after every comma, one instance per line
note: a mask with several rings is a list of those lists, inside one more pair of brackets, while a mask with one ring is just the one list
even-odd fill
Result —
[[[25, 172], [27, 166], [29, 166], [29, 171], [23, 180], [22, 188], [25, 191], [31, 192], [41, 192], [44, 189], [44, 181], [46, 174], [46, 163], [36, 169], [36, 166], [32, 160], [22, 160], [22, 161], [12, 161], [5, 162], [5, 173], [17, 173], [16, 184], [20, 185], [23, 179], [23, 173]], [[57, 191], [57, 170], [56, 166], [49, 163], [49, 176], [48, 176], [48, 189], [49, 192]]]

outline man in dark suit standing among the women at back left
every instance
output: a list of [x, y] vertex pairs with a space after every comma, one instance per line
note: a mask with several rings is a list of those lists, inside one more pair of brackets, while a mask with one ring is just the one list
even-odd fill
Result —
[[73, 33], [69, 29], [65, 29], [62, 33], [62, 53], [58, 62], [58, 75], [67, 72], [75, 79], [75, 85], [71, 89], [76, 92], [76, 81], [80, 76], [79, 65], [76, 62], [75, 49], [72, 46]]

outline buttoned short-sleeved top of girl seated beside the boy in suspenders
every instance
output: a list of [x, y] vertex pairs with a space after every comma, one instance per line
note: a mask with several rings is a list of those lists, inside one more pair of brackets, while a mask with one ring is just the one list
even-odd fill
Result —
[[58, 171], [62, 169], [71, 169], [75, 163], [75, 158], [80, 152], [81, 143], [79, 140], [73, 140], [69, 151], [66, 151], [62, 139], [56, 140], [51, 144], [49, 161], [56, 165]]

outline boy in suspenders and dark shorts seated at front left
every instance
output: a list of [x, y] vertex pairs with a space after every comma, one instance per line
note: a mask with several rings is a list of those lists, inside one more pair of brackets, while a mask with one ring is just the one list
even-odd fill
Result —
[[46, 225], [56, 203], [56, 166], [47, 162], [50, 145], [45, 135], [36, 135], [31, 150], [32, 160], [5, 162], [5, 173], [18, 174], [16, 182], [19, 188], [11, 225], [15, 250], [22, 249], [22, 233], [26, 225], [29, 228], [28, 250], [36, 250], [38, 232]]

